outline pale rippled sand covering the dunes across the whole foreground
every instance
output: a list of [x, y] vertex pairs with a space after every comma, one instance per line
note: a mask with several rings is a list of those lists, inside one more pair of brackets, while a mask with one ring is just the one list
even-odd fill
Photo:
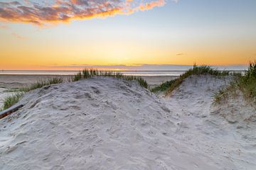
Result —
[[0, 169], [256, 169], [255, 122], [213, 105], [228, 81], [191, 77], [168, 98], [110, 77], [31, 91], [0, 120]]

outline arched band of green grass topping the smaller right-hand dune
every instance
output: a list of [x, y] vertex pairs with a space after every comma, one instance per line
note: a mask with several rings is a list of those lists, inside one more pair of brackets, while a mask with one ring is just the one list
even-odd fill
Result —
[[190, 77], [191, 75], [213, 75], [213, 76], [218, 76], [218, 77], [223, 77], [223, 76], [228, 76], [229, 72], [220, 72], [217, 69], [213, 69], [210, 66], [202, 65], [202, 66], [197, 66], [194, 64], [192, 69], [188, 69], [187, 72], [184, 74], [181, 74], [176, 81], [172, 82], [171, 86], [166, 91], [166, 94], [171, 94], [174, 89], [176, 89], [184, 79]]

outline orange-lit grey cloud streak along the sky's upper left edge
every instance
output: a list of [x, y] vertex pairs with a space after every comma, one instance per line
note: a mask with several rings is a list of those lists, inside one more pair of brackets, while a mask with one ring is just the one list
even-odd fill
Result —
[[75, 19], [128, 15], [165, 4], [166, 0], [4, 1], [0, 2], [0, 21], [44, 26], [46, 23], [64, 23]]

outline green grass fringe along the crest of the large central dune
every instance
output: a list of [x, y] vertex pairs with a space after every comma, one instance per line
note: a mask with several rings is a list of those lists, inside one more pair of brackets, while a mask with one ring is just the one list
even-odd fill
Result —
[[120, 72], [101, 72], [97, 71], [97, 69], [83, 69], [82, 72], [78, 72], [78, 74], [75, 74], [72, 81], [78, 81], [80, 79], [88, 79], [91, 77], [100, 76], [100, 77], [115, 77], [117, 79], [124, 79], [127, 81], [138, 81], [140, 86], [143, 86], [144, 88], [148, 89], [149, 85], [147, 82], [142, 79], [141, 77], [132, 77], [132, 76], [125, 76], [124, 74]]

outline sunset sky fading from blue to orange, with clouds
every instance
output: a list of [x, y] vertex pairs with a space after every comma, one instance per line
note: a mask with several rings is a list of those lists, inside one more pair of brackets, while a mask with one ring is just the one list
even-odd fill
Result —
[[0, 69], [256, 60], [255, 0], [0, 0]]

